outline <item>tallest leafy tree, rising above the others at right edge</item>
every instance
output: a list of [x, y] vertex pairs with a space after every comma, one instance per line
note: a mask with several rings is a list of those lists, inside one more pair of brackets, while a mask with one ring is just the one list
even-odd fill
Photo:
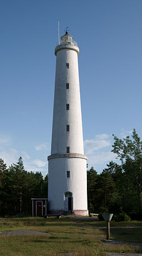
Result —
[[[113, 134], [114, 136], [114, 134]], [[133, 129], [132, 139], [130, 136], [119, 139], [114, 136], [112, 145], [117, 158], [122, 162], [123, 187], [122, 205], [127, 212], [141, 212], [141, 178], [142, 178], [142, 141]]]

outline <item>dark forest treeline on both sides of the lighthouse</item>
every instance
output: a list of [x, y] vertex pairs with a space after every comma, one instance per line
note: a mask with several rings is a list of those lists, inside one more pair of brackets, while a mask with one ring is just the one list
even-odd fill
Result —
[[[113, 135], [114, 136], [114, 135]], [[87, 170], [87, 198], [90, 213], [142, 215], [142, 142], [135, 129], [132, 138], [114, 136], [112, 152], [119, 164], [110, 162], [101, 174]], [[7, 168], [0, 159], [0, 216], [31, 215], [31, 198], [47, 198], [48, 175], [24, 170], [22, 157]]]

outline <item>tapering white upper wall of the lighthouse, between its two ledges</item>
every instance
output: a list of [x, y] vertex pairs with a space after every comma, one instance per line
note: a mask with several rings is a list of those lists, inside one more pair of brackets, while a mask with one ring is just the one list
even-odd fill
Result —
[[[66, 133], [68, 124], [70, 131]], [[57, 52], [51, 154], [66, 153], [66, 146], [70, 147], [70, 153], [83, 154], [78, 57], [77, 52], [70, 49]]]

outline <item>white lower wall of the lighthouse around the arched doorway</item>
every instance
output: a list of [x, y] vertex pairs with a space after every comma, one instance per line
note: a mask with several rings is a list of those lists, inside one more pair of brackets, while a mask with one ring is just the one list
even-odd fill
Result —
[[[70, 171], [70, 178], [66, 178]], [[86, 160], [81, 158], [55, 158], [49, 160], [50, 210], [64, 210], [64, 193], [73, 193], [73, 210], [87, 210]]]

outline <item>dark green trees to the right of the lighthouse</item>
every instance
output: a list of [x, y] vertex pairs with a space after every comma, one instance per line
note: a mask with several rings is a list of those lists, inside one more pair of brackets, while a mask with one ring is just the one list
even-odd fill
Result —
[[[114, 135], [113, 135], [114, 136]], [[142, 218], [142, 142], [133, 129], [132, 139], [114, 136], [112, 152], [120, 164], [110, 162], [101, 174], [87, 171], [89, 210], [95, 213], [124, 211], [131, 218]]]

